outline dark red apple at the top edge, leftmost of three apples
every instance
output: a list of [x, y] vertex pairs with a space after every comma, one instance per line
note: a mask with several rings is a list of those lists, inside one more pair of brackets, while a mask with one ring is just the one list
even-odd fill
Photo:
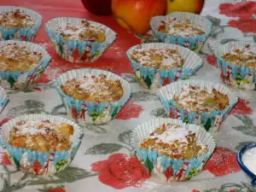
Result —
[[111, 0], [82, 0], [84, 8], [94, 15], [112, 15]]

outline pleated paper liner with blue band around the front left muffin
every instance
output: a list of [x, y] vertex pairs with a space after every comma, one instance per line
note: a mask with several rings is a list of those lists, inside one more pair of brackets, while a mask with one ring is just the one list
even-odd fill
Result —
[[[71, 138], [72, 146], [69, 150], [64, 151], [50, 151], [49, 153], [41, 153], [26, 148], [17, 148], [9, 145], [9, 133], [14, 128], [15, 123], [20, 120], [49, 120], [51, 123], [67, 123], [72, 125], [74, 133]], [[6, 148], [9, 159], [17, 170], [22, 172], [43, 175], [55, 174], [65, 169], [73, 160], [76, 152], [79, 149], [83, 131], [79, 125], [73, 121], [64, 119], [59, 116], [48, 114], [28, 114], [10, 119], [7, 123], [3, 124], [0, 130], [0, 143], [3, 148]]]

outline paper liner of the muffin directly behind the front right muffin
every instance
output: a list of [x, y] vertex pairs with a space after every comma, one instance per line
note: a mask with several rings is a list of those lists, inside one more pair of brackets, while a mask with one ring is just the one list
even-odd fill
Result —
[[[224, 110], [211, 111], [208, 113], [193, 113], [184, 110], [183, 108], [177, 107], [177, 104], [172, 100], [172, 96], [183, 90], [186, 85], [199, 85], [201, 88], [207, 88], [211, 91], [212, 89], [218, 90], [224, 95], [228, 96], [230, 104]], [[168, 84], [157, 90], [157, 96], [160, 102], [166, 108], [166, 114], [168, 117], [174, 119], [181, 119], [185, 123], [201, 125], [206, 131], [218, 131], [227, 114], [238, 102], [238, 97], [234, 92], [232, 92], [228, 87], [223, 84], [215, 84], [212, 82], [207, 82], [203, 80], [189, 79], [177, 81], [173, 84]]]

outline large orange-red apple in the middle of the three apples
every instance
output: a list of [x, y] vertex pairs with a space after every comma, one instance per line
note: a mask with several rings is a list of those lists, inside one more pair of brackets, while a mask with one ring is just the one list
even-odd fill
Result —
[[130, 32], [143, 34], [150, 29], [150, 19], [165, 15], [166, 0], [112, 0], [112, 13], [120, 26]]

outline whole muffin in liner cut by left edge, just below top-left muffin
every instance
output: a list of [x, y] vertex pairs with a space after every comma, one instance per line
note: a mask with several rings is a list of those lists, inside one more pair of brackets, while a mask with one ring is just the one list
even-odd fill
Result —
[[38, 44], [1, 41], [0, 85], [5, 89], [26, 89], [38, 81], [49, 61], [49, 54]]

